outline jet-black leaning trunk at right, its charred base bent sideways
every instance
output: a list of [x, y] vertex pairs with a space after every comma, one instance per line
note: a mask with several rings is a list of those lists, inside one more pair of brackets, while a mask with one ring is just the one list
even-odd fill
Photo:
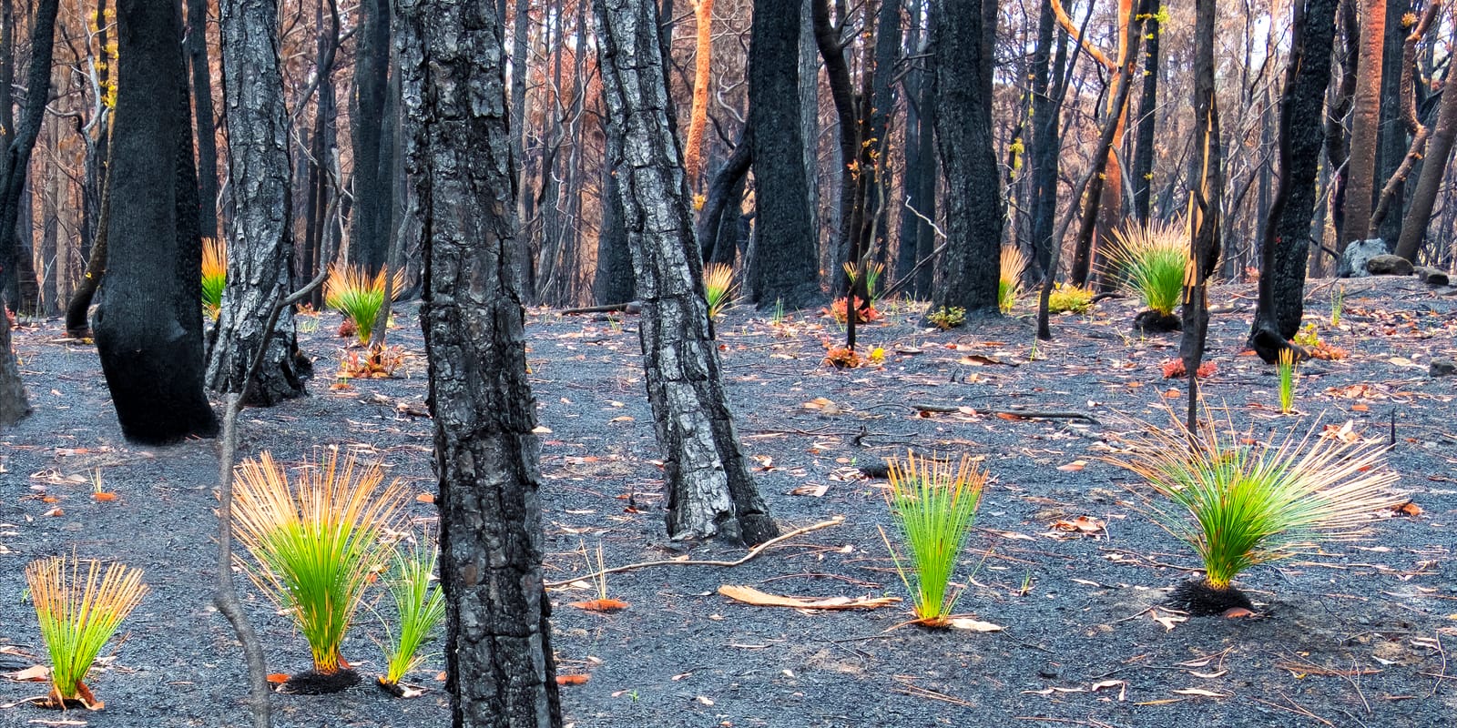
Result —
[[1326, 143], [1320, 111], [1330, 86], [1330, 47], [1339, 0], [1297, 0], [1279, 105], [1279, 186], [1260, 242], [1259, 304], [1250, 347], [1273, 361], [1300, 331], [1305, 298], [1316, 167]]

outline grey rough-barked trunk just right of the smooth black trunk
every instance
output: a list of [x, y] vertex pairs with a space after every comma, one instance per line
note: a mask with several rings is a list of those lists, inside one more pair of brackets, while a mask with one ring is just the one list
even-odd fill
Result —
[[[221, 0], [223, 89], [233, 215], [227, 234], [227, 288], [213, 328], [207, 386], [245, 392], [248, 368], [268, 332], [278, 298], [291, 291], [293, 218], [288, 118], [278, 70], [277, 0]], [[296, 360], [293, 307], [286, 306], [248, 387], [249, 405], [305, 395]]]

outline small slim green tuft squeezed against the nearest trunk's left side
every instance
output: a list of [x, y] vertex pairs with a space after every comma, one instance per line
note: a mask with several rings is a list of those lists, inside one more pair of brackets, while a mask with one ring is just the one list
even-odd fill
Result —
[[446, 616], [444, 594], [433, 584], [436, 574], [436, 549], [418, 543], [412, 549], [395, 552], [395, 568], [389, 575], [389, 596], [395, 601], [398, 632], [390, 636], [385, 655], [386, 673], [379, 684], [404, 696], [401, 680], [420, 667], [424, 655], [420, 648], [431, 639], [440, 620]]

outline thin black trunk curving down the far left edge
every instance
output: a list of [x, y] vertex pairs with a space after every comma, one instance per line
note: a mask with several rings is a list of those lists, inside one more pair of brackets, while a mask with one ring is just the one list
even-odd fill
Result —
[[[20, 220], [20, 194], [31, 166], [31, 151], [35, 140], [41, 134], [41, 122], [45, 119], [45, 102], [51, 95], [51, 55], [55, 50], [55, 13], [58, 0], [41, 0], [35, 7], [35, 17], [31, 20], [31, 68], [26, 71], [26, 98], [20, 109], [20, 119], [6, 125], [9, 144], [0, 149], [0, 281], [15, 280], [16, 274], [25, 274], [29, 265], [22, 261], [29, 255], [28, 246], [22, 249], [16, 233]], [[13, 19], [12, 19], [13, 22]], [[0, 48], [9, 55], [13, 48]], [[6, 99], [9, 114], [9, 99]], [[13, 131], [12, 131], [13, 130]], [[31, 284], [34, 285], [34, 274]], [[0, 284], [0, 291], [7, 288]], [[0, 294], [0, 304], [4, 296]], [[10, 306], [19, 310], [22, 301], [12, 300]], [[9, 357], [10, 349], [0, 354]]]

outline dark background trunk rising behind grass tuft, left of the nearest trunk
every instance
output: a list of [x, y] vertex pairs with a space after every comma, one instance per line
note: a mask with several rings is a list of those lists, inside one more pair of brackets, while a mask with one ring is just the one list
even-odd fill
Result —
[[361, 0], [354, 63], [354, 207], [350, 255], [372, 275], [389, 258], [395, 162], [389, 115], [389, 0]]

